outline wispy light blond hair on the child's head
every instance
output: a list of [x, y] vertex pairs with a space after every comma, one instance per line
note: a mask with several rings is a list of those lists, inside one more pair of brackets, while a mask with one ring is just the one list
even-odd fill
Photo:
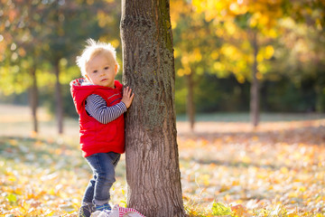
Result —
[[96, 57], [98, 54], [101, 53], [110, 53], [113, 56], [114, 61], [117, 65], [117, 71], [119, 70], [119, 65], [116, 61], [116, 49], [112, 46], [112, 44], [106, 42], [96, 42], [93, 39], [88, 39], [86, 42], [88, 43], [88, 45], [82, 51], [81, 55], [77, 57], [76, 61], [82, 76], [85, 77], [86, 75], [86, 67], [88, 61], [90, 61], [92, 58]]

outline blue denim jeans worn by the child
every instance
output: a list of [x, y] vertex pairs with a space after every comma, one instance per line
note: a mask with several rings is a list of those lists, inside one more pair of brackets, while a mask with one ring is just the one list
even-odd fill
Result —
[[110, 199], [109, 189], [115, 183], [115, 167], [121, 155], [115, 152], [98, 153], [86, 157], [88, 165], [93, 171], [86, 188], [82, 203], [102, 205]]

